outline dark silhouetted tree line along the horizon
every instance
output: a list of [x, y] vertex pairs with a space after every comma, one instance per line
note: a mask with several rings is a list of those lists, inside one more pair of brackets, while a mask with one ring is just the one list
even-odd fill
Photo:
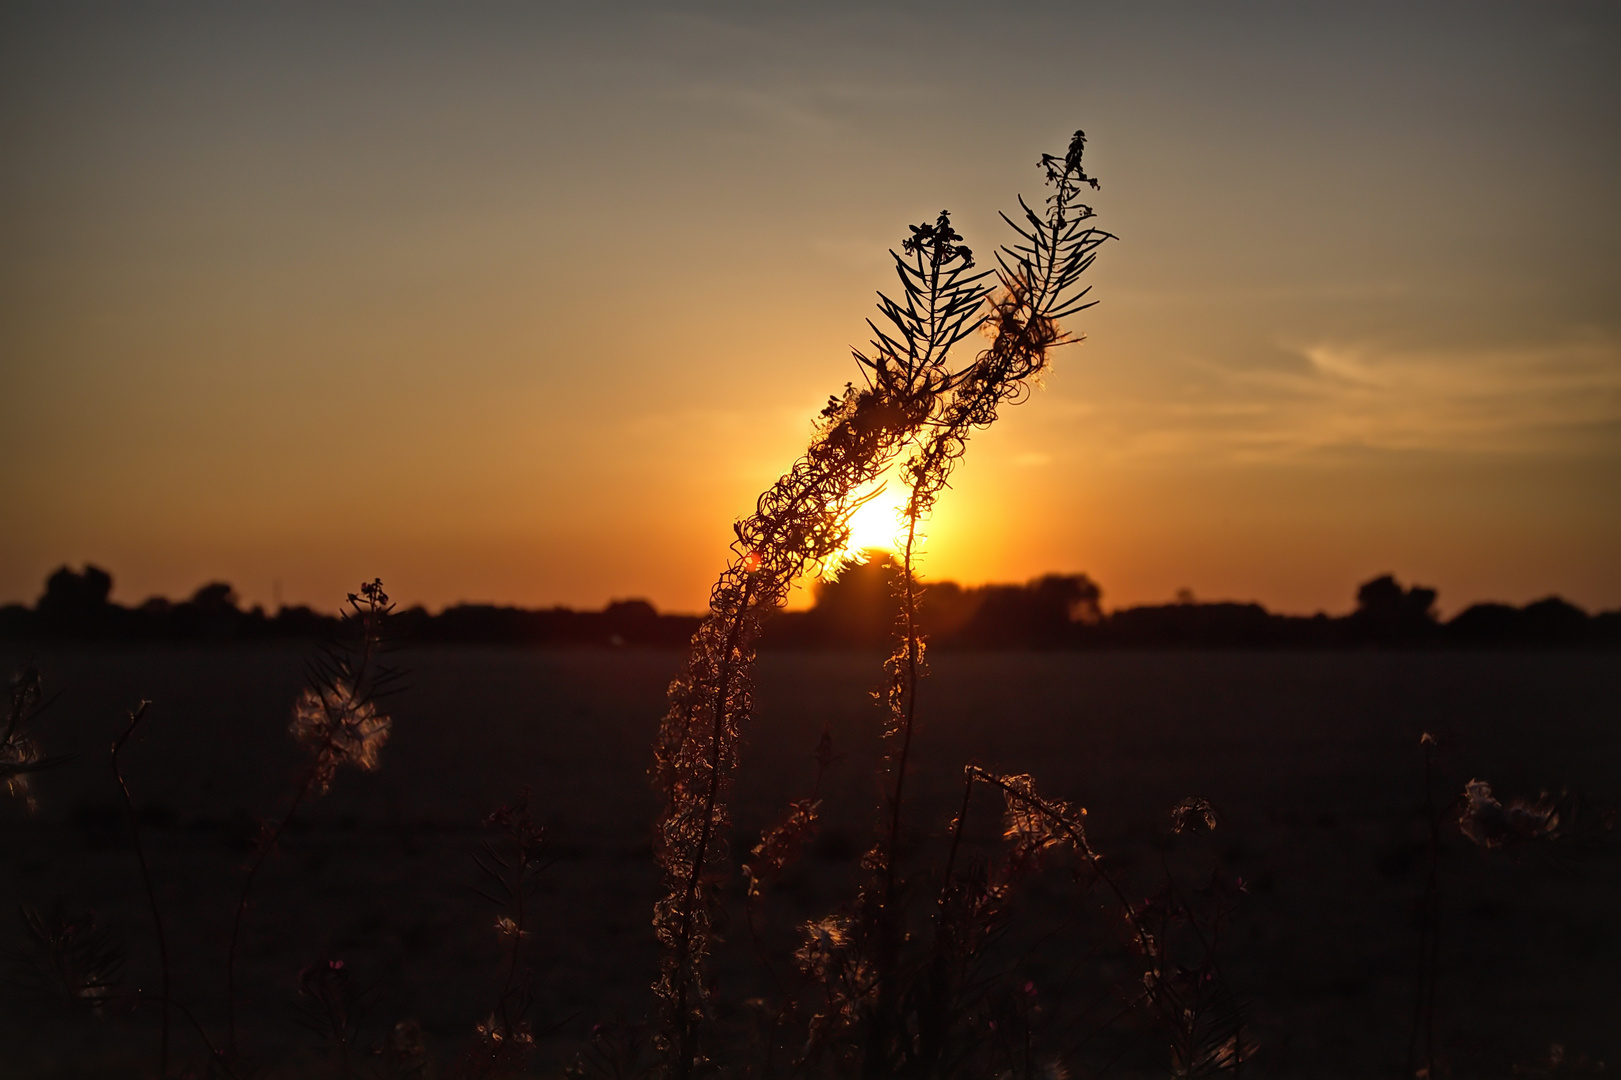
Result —
[[[86, 590], [105, 577], [94, 566], [52, 574], [62, 595], [94, 603], [0, 608], [0, 637], [50, 641], [326, 641], [342, 619], [306, 606], [266, 615], [237, 606], [230, 585], [199, 589], [191, 600], [148, 600], [125, 608], [107, 592]], [[75, 584], [63, 585], [66, 579]], [[780, 611], [762, 629], [760, 649], [883, 649], [901, 613], [905, 576], [896, 556], [870, 551], [836, 577], [814, 585], [814, 606]], [[110, 582], [110, 577], [109, 577]], [[47, 590], [49, 595], [49, 590]], [[916, 619], [934, 649], [1613, 649], [1621, 611], [1589, 615], [1546, 597], [1524, 606], [1475, 603], [1451, 619], [1435, 610], [1433, 589], [1405, 589], [1381, 576], [1358, 590], [1349, 615], [1279, 615], [1260, 603], [1177, 602], [1106, 611], [1102, 589], [1086, 574], [1047, 574], [1023, 585], [930, 582]], [[47, 618], [45, 610], [52, 615]], [[671, 615], [647, 600], [616, 600], [601, 611], [462, 603], [430, 613], [396, 611], [392, 624], [413, 645], [488, 644], [538, 647], [684, 647], [699, 616]]]

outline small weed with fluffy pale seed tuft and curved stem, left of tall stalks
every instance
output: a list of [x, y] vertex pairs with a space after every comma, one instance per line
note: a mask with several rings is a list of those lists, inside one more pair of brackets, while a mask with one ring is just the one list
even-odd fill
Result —
[[334, 644], [316, 654], [306, 686], [293, 705], [290, 731], [306, 749], [308, 759], [285, 812], [274, 825], [261, 830], [242, 881], [225, 950], [227, 1051], [232, 1057], [237, 1056], [237, 947], [253, 882], [298, 808], [310, 798], [326, 795], [340, 765], [374, 770], [378, 752], [389, 738], [391, 720], [378, 710], [376, 702], [397, 691], [405, 678], [404, 671], [383, 660], [387, 645], [384, 623], [392, 611], [394, 605], [378, 579], [363, 584], [358, 594], [349, 594], [344, 621], [353, 628], [355, 641]]

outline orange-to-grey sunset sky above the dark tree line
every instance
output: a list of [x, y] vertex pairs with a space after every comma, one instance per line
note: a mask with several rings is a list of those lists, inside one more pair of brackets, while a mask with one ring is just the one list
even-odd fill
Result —
[[702, 610], [887, 250], [1117, 240], [924, 574], [1621, 606], [1621, 8], [8, 3], [0, 602]]

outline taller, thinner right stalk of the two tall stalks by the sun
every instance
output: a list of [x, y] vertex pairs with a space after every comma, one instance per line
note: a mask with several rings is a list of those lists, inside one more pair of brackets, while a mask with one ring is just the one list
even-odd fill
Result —
[[[896, 846], [901, 835], [906, 765], [911, 754], [917, 715], [917, 684], [926, 673], [924, 641], [917, 631], [921, 587], [914, 572], [917, 525], [926, 519], [948, 486], [952, 472], [968, 451], [968, 436], [997, 420], [1003, 404], [1018, 404], [1029, 394], [1034, 378], [1047, 366], [1047, 350], [1070, 339], [1057, 319], [1081, 311], [1091, 303], [1076, 292], [1080, 276], [1093, 264], [1096, 250], [1109, 234], [1086, 225], [1094, 211], [1076, 201], [1080, 186], [1097, 186], [1081, 167], [1086, 136], [1075, 133], [1067, 156], [1044, 154], [1041, 165], [1055, 190], [1047, 199], [1047, 216], [1041, 217], [1020, 198], [1029, 229], [1020, 229], [1005, 214], [1024, 243], [997, 251], [1002, 285], [987, 315], [977, 324], [989, 324], [994, 339], [989, 349], [950, 378], [950, 397], [940, 415], [932, 418], [913, 456], [901, 470], [909, 491], [903, 521], [906, 538], [901, 546], [901, 613], [896, 647], [885, 662], [888, 720], [885, 736], [888, 752], [883, 761], [887, 804], [880, 811], [880, 829], [874, 846], [862, 859], [869, 872], [858, 897], [861, 947], [877, 973], [877, 1001], [872, 1004], [867, 1030], [864, 1075], [882, 1075], [888, 1067], [885, 1044], [893, 1026], [900, 988], [895, 973], [903, 937], [903, 913], [896, 902]], [[943, 217], [942, 217], [943, 221]], [[976, 279], [977, 281], [977, 279]], [[955, 316], [953, 316], [955, 318]], [[976, 326], [977, 326], [976, 324]]]

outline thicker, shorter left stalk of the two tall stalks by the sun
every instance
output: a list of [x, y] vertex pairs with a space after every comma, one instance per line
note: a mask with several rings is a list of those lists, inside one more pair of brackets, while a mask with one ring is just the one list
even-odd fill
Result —
[[[856, 354], [867, 386], [846, 384], [828, 399], [809, 449], [733, 525], [733, 561], [710, 592], [710, 611], [692, 637], [687, 671], [669, 688], [652, 778], [665, 795], [658, 861], [666, 895], [653, 926], [665, 958], [655, 984], [666, 1007], [660, 1036], [669, 1074], [682, 1080], [700, 1062], [704, 962], [713, 889], [728, 872], [723, 837], [738, 765], [739, 726], [752, 712], [755, 642], [765, 616], [783, 606], [793, 581], [825, 566], [849, 543], [856, 495], [937, 418], [952, 383], [950, 347], [977, 326], [981, 276], [968, 277], [973, 255], [956, 242], [947, 214], [914, 225], [892, 251], [906, 285], [905, 303], [880, 295], [896, 328], [877, 334], [874, 355]], [[874, 328], [877, 332], [877, 329]]]

